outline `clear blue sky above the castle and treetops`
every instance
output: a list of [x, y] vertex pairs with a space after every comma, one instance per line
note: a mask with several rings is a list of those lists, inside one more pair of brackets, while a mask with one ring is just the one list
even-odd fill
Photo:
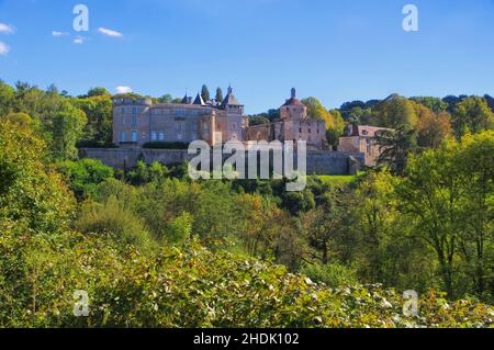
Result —
[[[78, 3], [89, 32], [72, 29]], [[418, 32], [402, 29], [407, 3]], [[232, 83], [248, 113], [292, 87], [327, 108], [392, 92], [494, 95], [494, 0], [0, 0], [0, 79], [70, 94]]]

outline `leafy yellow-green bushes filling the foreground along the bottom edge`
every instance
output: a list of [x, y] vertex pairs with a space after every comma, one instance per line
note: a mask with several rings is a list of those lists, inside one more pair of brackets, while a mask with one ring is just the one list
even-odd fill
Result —
[[[2, 227], [0, 327], [490, 327], [494, 309], [428, 293], [419, 314], [380, 285], [338, 290], [191, 242], [156, 256], [101, 237]], [[20, 239], [22, 238], [22, 239]], [[75, 317], [74, 292], [89, 295]]]

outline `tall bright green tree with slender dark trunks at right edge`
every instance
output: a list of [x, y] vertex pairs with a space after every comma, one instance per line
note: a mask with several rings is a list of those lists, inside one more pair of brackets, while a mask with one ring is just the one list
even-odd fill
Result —
[[473, 276], [480, 296], [487, 280], [492, 285], [493, 267], [487, 261], [493, 257], [493, 132], [467, 136], [461, 143], [448, 140], [439, 149], [412, 156], [406, 178], [396, 187], [412, 234], [436, 253], [449, 297], [469, 290], [468, 282], [460, 284], [462, 257], [473, 267], [465, 272]]

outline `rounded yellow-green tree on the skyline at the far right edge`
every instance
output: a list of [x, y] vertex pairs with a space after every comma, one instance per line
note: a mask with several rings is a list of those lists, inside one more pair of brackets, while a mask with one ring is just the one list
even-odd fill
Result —
[[472, 134], [494, 127], [494, 113], [483, 98], [464, 99], [454, 108], [452, 114], [454, 135], [460, 139], [468, 132]]

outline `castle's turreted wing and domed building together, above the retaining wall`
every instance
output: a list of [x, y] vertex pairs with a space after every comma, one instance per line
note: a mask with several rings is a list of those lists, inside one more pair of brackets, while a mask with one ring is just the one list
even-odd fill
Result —
[[280, 121], [249, 126], [244, 105], [233, 94], [225, 99], [203, 101], [186, 94], [181, 103], [154, 104], [150, 99], [115, 98], [113, 100], [113, 142], [120, 147], [142, 147], [148, 143], [204, 140], [211, 146], [229, 140], [306, 140], [307, 149], [322, 150], [326, 143], [324, 121], [307, 115], [307, 108], [291, 98], [280, 108]]

